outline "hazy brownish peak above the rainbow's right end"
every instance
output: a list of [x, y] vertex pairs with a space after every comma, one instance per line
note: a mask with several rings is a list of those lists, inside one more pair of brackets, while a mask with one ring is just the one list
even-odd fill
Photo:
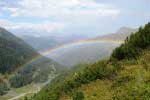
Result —
[[131, 33], [136, 32], [137, 29], [132, 29], [128, 27], [121, 27], [117, 32], [111, 33], [104, 36], [96, 37], [96, 40], [115, 40], [115, 41], [124, 41], [126, 37], [130, 36]]

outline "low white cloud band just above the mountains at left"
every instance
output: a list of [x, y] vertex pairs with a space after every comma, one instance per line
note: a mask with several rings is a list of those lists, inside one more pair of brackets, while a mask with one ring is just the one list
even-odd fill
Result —
[[27, 22], [14, 23], [9, 20], [0, 19], [0, 23], [2, 27], [12, 32], [16, 32], [20, 34], [34, 34], [34, 33], [47, 34], [53, 31], [59, 31], [64, 27], [63, 23], [48, 22], [48, 21], [41, 22], [39, 24], [37, 23], [34, 24], [34, 23], [27, 23]]

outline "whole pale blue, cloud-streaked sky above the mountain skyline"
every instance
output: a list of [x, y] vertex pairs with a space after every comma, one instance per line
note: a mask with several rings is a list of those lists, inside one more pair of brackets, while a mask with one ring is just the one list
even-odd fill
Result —
[[0, 27], [17, 35], [97, 36], [150, 21], [150, 0], [0, 0]]

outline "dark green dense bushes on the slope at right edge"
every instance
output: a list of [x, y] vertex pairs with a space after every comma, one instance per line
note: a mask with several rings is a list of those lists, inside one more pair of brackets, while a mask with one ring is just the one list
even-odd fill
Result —
[[137, 58], [144, 49], [150, 48], [150, 23], [144, 28], [140, 27], [139, 31], [131, 34], [125, 40], [125, 43], [116, 48], [112, 58], [117, 60]]

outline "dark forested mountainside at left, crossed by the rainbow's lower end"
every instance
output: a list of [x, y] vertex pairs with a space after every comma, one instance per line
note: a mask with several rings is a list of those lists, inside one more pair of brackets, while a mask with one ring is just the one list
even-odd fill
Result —
[[9, 85], [22, 87], [32, 82], [45, 82], [61, 67], [55, 61], [38, 54], [23, 40], [0, 28], [0, 95], [9, 90]]

